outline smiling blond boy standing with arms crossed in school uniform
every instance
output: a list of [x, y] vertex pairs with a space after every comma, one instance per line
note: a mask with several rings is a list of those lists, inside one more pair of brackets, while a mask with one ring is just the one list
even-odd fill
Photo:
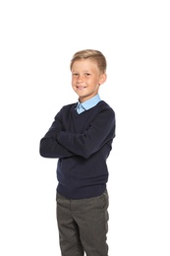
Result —
[[115, 137], [114, 110], [98, 95], [106, 59], [93, 49], [71, 61], [77, 103], [65, 105], [40, 140], [40, 155], [56, 158], [57, 224], [62, 256], [107, 256], [106, 160]]

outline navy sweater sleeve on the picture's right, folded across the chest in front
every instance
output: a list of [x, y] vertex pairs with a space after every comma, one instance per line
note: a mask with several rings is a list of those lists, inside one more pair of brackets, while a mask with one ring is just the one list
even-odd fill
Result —
[[68, 151], [85, 159], [115, 137], [115, 114], [112, 108], [99, 112], [82, 134], [57, 133], [57, 141]]

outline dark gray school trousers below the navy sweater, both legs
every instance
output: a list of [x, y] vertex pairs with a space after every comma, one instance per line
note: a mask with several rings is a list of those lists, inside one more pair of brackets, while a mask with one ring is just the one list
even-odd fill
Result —
[[57, 194], [62, 256], [108, 256], [108, 194], [69, 200]]

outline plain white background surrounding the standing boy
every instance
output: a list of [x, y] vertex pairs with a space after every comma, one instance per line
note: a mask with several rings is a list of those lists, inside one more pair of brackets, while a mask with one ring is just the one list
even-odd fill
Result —
[[107, 58], [100, 97], [117, 118], [109, 256], [170, 255], [168, 3], [0, 2], [0, 255], [60, 255], [57, 160], [39, 156], [39, 140], [58, 110], [77, 101], [69, 65], [85, 48]]

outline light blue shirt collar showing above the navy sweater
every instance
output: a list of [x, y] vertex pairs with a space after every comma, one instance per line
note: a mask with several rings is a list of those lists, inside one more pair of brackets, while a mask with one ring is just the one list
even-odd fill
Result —
[[91, 98], [85, 100], [85, 102], [81, 103], [78, 100], [78, 104], [76, 107], [76, 110], [79, 114], [83, 113], [85, 110], [90, 109], [91, 107], [95, 106], [99, 101], [100, 101], [100, 96], [96, 95], [96, 96], [92, 96]]

